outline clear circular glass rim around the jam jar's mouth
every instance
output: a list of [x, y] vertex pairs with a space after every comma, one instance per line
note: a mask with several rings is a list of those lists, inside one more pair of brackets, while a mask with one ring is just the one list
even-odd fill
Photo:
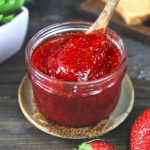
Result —
[[[34, 73], [40, 77], [41, 79], [45, 79], [48, 80], [50, 82], [63, 82], [64, 84], [67, 85], [80, 85], [82, 83], [82, 85], [87, 85], [87, 84], [96, 84], [99, 82], [104, 82], [106, 80], [108, 80], [109, 78], [111, 78], [113, 75], [117, 74], [117, 72], [119, 71], [119, 69], [121, 68], [121, 66], [126, 62], [127, 60], [127, 47], [124, 43], [124, 41], [122, 40], [122, 38], [113, 30], [111, 30], [110, 28], [106, 29], [107, 33], [111, 33], [113, 35], [115, 35], [115, 37], [117, 37], [119, 39], [120, 44], [123, 46], [124, 50], [125, 50], [125, 56], [123, 57], [119, 67], [117, 67], [115, 70], [113, 70], [111, 73], [104, 75], [103, 77], [99, 78], [99, 79], [95, 79], [95, 80], [89, 80], [89, 81], [77, 81], [77, 82], [71, 82], [71, 81], [64, 81], [61, 79], [53, 79], [50, 76], [44, 74], [43, 72], [41, 72], [40, 70], [38, 70], [31, 62], [31, 57], [29, 56], [30, 53], [30, 49], [33, 46], [35, 40], [39, 37], [39, 35], [43, 34], [44, 32], [50, 30], [50, 29], [54, 29], [54, 28], [58, 28], [60, 26], [68, 26], [69, 25], [85, 25], [86, 27], [89, 27], [92, 22], [87, 22], [87, 21], [70, 21], [70, 22], [62, 22], [62, 23], [56, 23], [56, 24], [52, 24], [49, 25], [43, 29], [41, 29], [40, 31], [38, 31], [28, 42], [27, 47], [25, 49], [25, 62], [26, 65], [29, 65], [29, 67], [31, 68], [32, 71], [34, 71]], [[87, 28], [88, 29], [88, 28]], [[82, 30], [83, 31], [83, 30]]]

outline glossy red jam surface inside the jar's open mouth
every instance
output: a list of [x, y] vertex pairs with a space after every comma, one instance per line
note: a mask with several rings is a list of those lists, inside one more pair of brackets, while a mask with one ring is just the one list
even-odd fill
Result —
[[120, 63], [119, 50], [102, 31], [62, 34], [43, 42], [32, 54], [32, 64], [38, 70], [72, 82], [101, 78]]

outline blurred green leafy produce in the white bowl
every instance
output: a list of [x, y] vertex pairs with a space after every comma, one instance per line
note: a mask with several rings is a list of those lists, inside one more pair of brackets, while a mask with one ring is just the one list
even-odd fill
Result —
[[26, 2], [32, 0], [0, 0], [0, 24], [12, 21]]

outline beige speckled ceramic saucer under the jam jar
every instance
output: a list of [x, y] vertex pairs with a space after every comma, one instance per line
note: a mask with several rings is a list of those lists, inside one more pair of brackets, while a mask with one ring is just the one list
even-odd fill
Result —
[[[33, 105], [32, 87], [27, 75], [20, 84], [18, 98], [23, 114], [38, 129], [61, 138], [83, 139], [100, 136], [121, 124], [132, 110], [134, 103], [134, 89], [130, 78], [126, 75], [122, 84], [119, 103], [114, 112], [110, 115], [110, 118], [108, 120], [103, 120], [95, 126], [82, 128], [63, 127], [53, 122], [48, 122]], [[87, 133], [86, 135], [85, 132]], [[74, 136], [72, 136], [73, 133]]]

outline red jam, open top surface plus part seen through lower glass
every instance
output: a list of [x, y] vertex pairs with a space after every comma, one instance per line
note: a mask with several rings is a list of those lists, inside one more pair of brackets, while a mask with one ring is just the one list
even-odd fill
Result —
[[[40, 44], [32, 55], [32, 64], [50, 78], [80, 84], [111, 73], [120, 63], [119, 50], [100, 31], [54, 36]], [[61, 90], [55, 92], [39, 85], [36, 79], [31, 81], [37, 106], [47, 119], [64, 126], [81, 127], [109, 117], [118, 102], [124, 74], [125, 71], [116, 76], [116, 83], [103, 92], [97, 91], [106, 87], [93, 84], [96, 93], [88, 96], [80, 92], [64, 95], [68, 91], [65, 84], [59, 85]]]

